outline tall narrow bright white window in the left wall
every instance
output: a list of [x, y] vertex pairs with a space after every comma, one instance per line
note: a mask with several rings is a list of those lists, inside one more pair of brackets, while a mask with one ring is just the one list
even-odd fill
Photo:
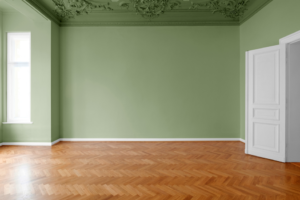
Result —
[[31, 34], [7, 34], [7, 122], [31, 121]]

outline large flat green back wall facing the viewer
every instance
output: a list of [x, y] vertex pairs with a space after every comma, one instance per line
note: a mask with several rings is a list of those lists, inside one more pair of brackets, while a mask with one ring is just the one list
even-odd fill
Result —
[[62, 27], [61, 137], [239, 138], [239, 27]]

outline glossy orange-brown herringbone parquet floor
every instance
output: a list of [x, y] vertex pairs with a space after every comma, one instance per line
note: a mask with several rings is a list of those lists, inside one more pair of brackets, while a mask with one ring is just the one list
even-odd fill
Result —
[[0, 147], [0, 199], [293, 200], [300, 167], [241, 142], [60, 142]]

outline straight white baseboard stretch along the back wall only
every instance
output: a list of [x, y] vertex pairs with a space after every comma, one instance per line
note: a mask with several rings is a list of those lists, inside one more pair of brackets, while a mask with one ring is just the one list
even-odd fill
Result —
[[240, 138], [61, 138], [66, 142], [193, 142], [240, 141]]

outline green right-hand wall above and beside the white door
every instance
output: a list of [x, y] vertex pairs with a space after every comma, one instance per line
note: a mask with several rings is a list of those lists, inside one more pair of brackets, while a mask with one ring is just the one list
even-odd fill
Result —
[[240, 132], [245, 138], [245, 52], [279, 44], [300, 30], [300, 1], [273, 0], [240, 26]]

